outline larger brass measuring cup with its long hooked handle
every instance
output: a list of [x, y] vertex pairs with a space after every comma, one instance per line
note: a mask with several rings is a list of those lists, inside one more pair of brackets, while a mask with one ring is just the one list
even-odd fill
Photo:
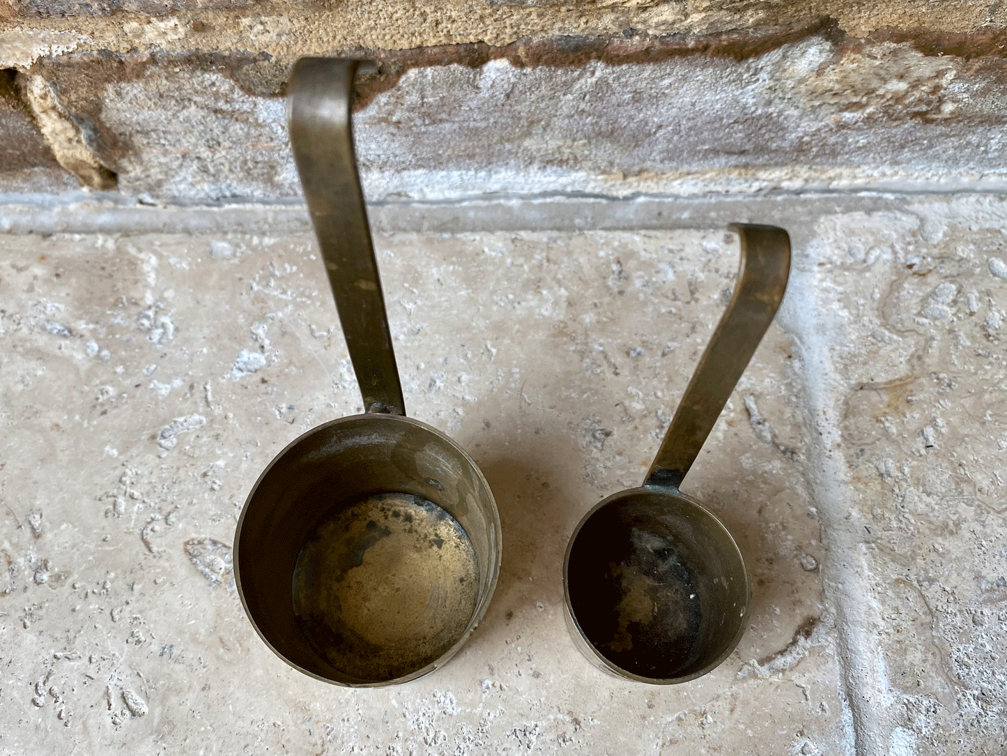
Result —
[[301, 58], [289, 85], [294, 158], [365, 413], [323, 423], [256, 482], [235, 577], [276, 654], [335, 684], [404, 682], [445, 663], [485, 614], [501, 544], [492, 493], [461, 447], [406, 417], [356, 172], [358, 61]]

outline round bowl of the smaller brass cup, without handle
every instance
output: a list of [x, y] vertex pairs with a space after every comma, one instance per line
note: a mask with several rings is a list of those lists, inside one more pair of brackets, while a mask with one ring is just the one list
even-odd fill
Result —
[[649, 682], [683, 682], [717, 666], [741, 638], [751, 597], [724, 525], [698, 502], [658, 488], [623, 491], [588, 512], [563, 578], [581, 650]]

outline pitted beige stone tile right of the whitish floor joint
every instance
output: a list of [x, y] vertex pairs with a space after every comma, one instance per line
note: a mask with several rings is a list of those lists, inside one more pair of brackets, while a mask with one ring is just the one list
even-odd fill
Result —
[[836, 326], [822, 410], [869, 639], [853, 684], [891, 752], [1007, 741], [1005, 222], [1003, 199], [966, 198], [815, 228]]

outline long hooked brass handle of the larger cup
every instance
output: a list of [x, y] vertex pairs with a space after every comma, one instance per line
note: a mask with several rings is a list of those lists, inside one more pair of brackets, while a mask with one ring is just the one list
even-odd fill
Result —
[[302, 57], [294, 65], [290, 144], [364, 409], [404, 415], [406, 403], [349, 128], [353, 75], [359, 64]]

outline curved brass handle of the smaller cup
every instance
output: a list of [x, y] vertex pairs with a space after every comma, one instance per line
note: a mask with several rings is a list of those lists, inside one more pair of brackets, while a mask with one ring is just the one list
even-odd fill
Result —
[[678, 490], [779, 308], [790, 239], [775, 226], [731, 224], [741, 241], [734, 294], [675, 411], [644, 486]]

